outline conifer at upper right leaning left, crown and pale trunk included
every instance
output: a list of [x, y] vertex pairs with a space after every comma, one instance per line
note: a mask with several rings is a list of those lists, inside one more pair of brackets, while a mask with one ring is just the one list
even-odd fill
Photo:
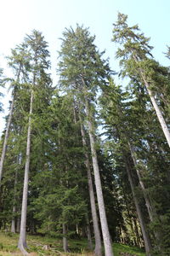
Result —
[[118, 20], [113, 25], [112, 41], [122, 45], [122, 48], [119, 48], [116, 52], [116, 57], [121, 58], [122, 75], [127, 75], [130, 79], [140, 80], [144, 84], [170, 147], [170, 133], [161, 108], [156, 102], [154, 87], [157, 85], [156, 78], [158, 75], [156, 75], [156, 71], [159, 71], [159, 64], [150, 58], [152, 57], [150, 53], [152, 47], [149, 45], [150, 39], [145, 38], [143, 33], [139, 33], [139, 26], [130, 27], [127, 25], [127, 15], [119, 13]]

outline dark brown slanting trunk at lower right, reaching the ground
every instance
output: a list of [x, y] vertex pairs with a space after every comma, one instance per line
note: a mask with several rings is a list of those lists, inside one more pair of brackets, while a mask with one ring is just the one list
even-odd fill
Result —
[[139, 217], [139, 223], [140, 223], [140, 227], [142, 230], [142, 235], [144, 237], [144, 247], [145, 247], [145, 251], [146, 251], [146, 255], [147, 256], [151, 256], [150, 252], [151, 252], [151, 242], [150, 242], [150, 236], [146, 230], [146, 226], [144, 224], [144, 217], [141, 211], [141, 208], [139, 206], [139, 201], [137, 196], [135, 195], [135, 191], [134, 191], [134, 183], [133, 183], [133, 177], [132, 177], [132, 171], [131, 168], [129, 166], [129, 163], [127, 162], [127, 158], [124, 155], [124, 161], [125, 161], [125, 165], [126, 165], [126, 169], [127, 169], [127, 176], [128, 176], [128, 180], [132, 189], [132, 193], [133, 193], [133, 200], [134, 200], [134, 204], [136, 207], [136, 211]]

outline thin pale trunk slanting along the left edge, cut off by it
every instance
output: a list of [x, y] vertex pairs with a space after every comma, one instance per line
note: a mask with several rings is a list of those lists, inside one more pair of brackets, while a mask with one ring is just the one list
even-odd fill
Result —
[[6, 150], [7, 150], [8, 135], [9, 135], [10, 124], [11, 124], [11, 120], [12, 120], [12, 116], [13, 116], [13, 110], [14, 110], [14, 95], [13, 95], [13, 99], [11, 102], [10, 111], [8, 114], [7, 129], [5, 131], [5, 137], [4, 137], [4, 142], [3, 142], [3, 152], [2, 152], [1, 160], [0, 160], [0, 186], [1, 186], [1, 180], [3, 177], [3, 163], [4, 163], [5, 154], [6, 154]]

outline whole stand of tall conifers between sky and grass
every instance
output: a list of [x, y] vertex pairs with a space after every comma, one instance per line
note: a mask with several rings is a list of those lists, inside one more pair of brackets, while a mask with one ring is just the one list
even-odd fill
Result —
[[[29, 252], [31, 235], [61, 241], [66, 254], [47, 255], [76, 255], [78, 240], [89, 255], [169, 256], [170, 67], [121, 13], [111, 35], [118, 73], [85, 26], [65, 28], [60, 40], [57, 84], [37, 30], [7, 56], [13, 75], [0, 68], [0, 101], [3, 87], [11, 91], [0, 138], [0, 237], [17, 236], [23, 255], [46, 255]], [[118, 244], [145, 254], [116, 254]]]

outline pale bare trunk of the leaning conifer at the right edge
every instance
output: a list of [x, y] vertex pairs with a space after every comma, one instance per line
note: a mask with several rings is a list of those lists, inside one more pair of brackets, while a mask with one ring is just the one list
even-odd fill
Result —
[[[133, 59], [136, 61], [137, 64], [139, 64], [139, 61], [138, 61], [137, 56], [133, 55]], [[157, 105], [155, 96], [153, 96], [152, 91], [150, 90], [150, 84], [149, 84], [149, 83], [147, 82], [147, 80], [145, 79], [144, 71], [142, 70], [142, 68], [139, 68], [139, 73], [140, 73], [140, 75], [141, 75], [141, 78], [142, 78], [143, 81], [144, 81], [144, 85], [145, 85], [146, 90], [148, 91], [148, 94], [149, 94], [149, 96], [150, 96], [150, 101], [152, 102], [152, 105], [153, 105], [153, 107], [154, 107], [154, 109], [155, 109], [155, 111], [156, 111], [157, 118], [158, 118], [158, 120], [159, 120], [159, 122], [160, 122], [161, 129], [162, 129], [162, 131], [163, 131], [163, 133], [164, 133], [164, 135], [165, 135], [165, 137], [166, 137], [166, 139], [167, 139], [167, 143], [168, 143], [168, 145], [169, 145], [169, 147], [170, 147], [170, 132], [169, 132], [169, 130], [168, 130], [168, 128], [167, 128], [166, 121], [165, 121], [165, 119], [163, 118], [163, 115], [162, 115], [162, 113], [161, 113], [161, 110], [160, 110], [160, 108], [159, 108], [158, 105]]]

